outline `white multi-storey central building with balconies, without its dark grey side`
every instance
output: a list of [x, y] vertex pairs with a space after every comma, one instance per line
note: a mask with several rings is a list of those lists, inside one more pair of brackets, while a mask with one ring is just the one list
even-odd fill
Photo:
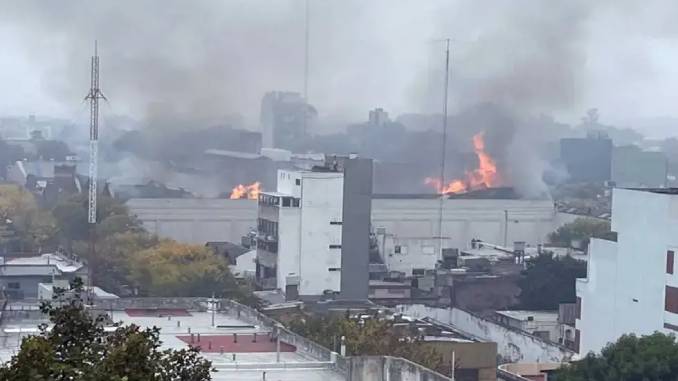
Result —
[[278, 171], [276, 192], [259, 195], [257, 281], [299, 295], [339, 291], [344, 177]]

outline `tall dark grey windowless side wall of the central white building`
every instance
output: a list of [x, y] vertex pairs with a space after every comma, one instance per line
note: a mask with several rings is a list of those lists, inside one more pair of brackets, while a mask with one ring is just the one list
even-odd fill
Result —
[[367, 300], [369, 292], [372, 159], [344, 162], [340, 299]]

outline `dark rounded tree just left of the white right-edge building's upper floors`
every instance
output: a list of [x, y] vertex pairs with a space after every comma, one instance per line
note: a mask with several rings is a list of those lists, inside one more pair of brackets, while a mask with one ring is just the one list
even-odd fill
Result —
[[575, 282], [586, 277], [586, 262], [570, 256], [541, 254], [527, 262], [518, 281], [520, 307], [528, 310], [557, 310], [560, 303], [576, 301]]

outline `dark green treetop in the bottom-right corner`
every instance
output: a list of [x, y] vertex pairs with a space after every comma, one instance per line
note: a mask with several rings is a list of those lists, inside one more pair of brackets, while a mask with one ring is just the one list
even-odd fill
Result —
[[[558, 370], [557, 381], [668, 381], [678, 379], [678, 343], [673, 335], [622, 336], [600, 354]], [[551, 379], [551, 376], [549, 376]]]

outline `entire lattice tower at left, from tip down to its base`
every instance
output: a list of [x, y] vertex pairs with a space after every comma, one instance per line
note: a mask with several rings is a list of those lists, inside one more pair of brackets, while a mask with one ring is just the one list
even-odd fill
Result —
[[90, 89], [85, 97], [89, 101], [89, 197], [87, 208], [87, 222], [89, 224], [89, 251], [87, 295], [91, 299], [92, 291], [92, 268], [96, 257], [96, 224], [97, 224], [97, 173], [98, 173], [98, 149], [99, 149], [99, 99], [106, 99], [99, 88], [99, 53], [97, 41], [94, 41], [94, 55], [92, 56], [90, 70]]

